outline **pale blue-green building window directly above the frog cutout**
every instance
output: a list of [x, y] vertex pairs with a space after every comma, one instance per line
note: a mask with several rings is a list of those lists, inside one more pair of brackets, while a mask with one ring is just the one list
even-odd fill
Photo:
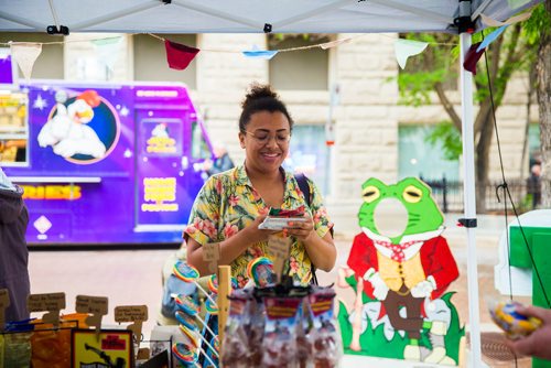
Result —
[[445, 160], [442, 154], [442, 144], [433, 147], [425, 139], [434, 127], [410, 126], [398, 127], [398, 158], [400, 177], [415, 176], [423, 180], [457, 181], [460, 163], [457, 160]]

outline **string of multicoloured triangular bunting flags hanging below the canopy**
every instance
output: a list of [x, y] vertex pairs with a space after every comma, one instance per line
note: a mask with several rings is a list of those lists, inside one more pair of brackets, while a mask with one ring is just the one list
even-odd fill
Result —
[[[526, 21], [530, 17], [531, 17], [531, 11], [512, 17], [506, 22], [500, 22], [493, 20], [484, 14], [480, 14], [480, 20], [483, 21], [483, 23], [485, 23], [488, 26], [497, 26], [497, 29], [490, 34], [488, 34], [483, 42], [475, 43], [471, 46], [471, 48], [466, 54], [463, 67], [469, 71], [471, 73], [476, 74], [476, 63], [482, 57], [482, 55], [484, 54], [485, 50], [489, 46], [489, 44], [495, 40], [497, 40], [501, 35], [501, 33], [506, 30], [507, 26], [517, 22]], [[201, 51], [227, 52], [227, 51], [216, 51], [216, 50], [199, 50], [170, 40], [165, 40], [161, 36], [151, 33], [149, 33], [149, 35], [159, 39], [164, 43], [166, 51], [166, 62], [169, 64], [169, 67], [176, 71], [184, 71]], [[292, 47], [285, 50], [260, 50], [258, 48], [258, 46], [255, 45], [250, 50], [240, 51], [239, 53], [241, 53], [247, 58], [269, 61], [272, 59], [278, 53], [303, 51], [317, 47], [322, 50], [327, 50], [348, 43], [353, 41], [353, 39], [355, 37], [339, 39], [331, 42], [324, 42], [321, 44]], [[115, 36], [100, 40], [91, 40], [91, 41], [85, 40], [85, 41], [91, 42], [94, 44], [98, 53], [99, 59], [102, 63], [105, 63], [107, 67], [112, 69], [114, 64], [117, 61], [118, 56], [117, 48], [119, 47], [120, 40], [121, 40], [120, 36]], [[60, 43], [63, 44], [65, 42], [52, 42], [52, 43], [10, 42], [8, 43], [8, 45], [10, 46], [11, 55], [20, 66], [23, 76], [26, 79], [30, 79], [32, 75], [33, 65], [42, 52], [42, 45], [60, 44]], [[395, 41], [393, 46], [398, 65], [403, 69], [406, 68], [408, 58], [421, 54], [424, 50], [426, 50], [429, 43], [413, 41], [413, 40], [398, 39]]]

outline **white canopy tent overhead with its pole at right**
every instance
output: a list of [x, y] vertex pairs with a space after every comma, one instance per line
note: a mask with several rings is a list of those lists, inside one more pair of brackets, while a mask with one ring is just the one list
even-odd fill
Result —
[[[496, 21], [541, 0], [0, 0], [0, 32], [458, 34], [461, 65], [480, 14]], [[469, 22], [472, 21], [472, 23]], [[471, 23], [471, 24], [469, 24]], [[63, 28], [62, 28], [63, 26]], [[475, 242], [473, 75], [461, 67], [467, 219], [469, 367], [482, 366]], [[471, 220], [471, 221], [469, 221]]]

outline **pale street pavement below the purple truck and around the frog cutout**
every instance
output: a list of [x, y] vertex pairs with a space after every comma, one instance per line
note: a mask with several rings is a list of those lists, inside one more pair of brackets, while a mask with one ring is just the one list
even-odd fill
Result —
[[[467, 237], [466, 230], [456, 226], [460, 215], [447, 215], [446, 230], [443, 236], [447, 239], [452, 253], [460, 268], [460, 278], [449, 288], [456, 291], [452, 302], [457, 307], [462, 322], [469, 329], [468, 313], [468, 281], [467, 281]], [[494, 286], [494, 266], [498, 261], [498, 241], [506, 228], [503, 216], [478, 216], [476, 229], [476, 259], [479, 328], [483, 334], [496, 333], [498, 329], [491, 323], [487, 312], [488, 299], [506, 299]], [[509, 218], [511, 220], [511, 218]], [[336, 221], [335, 221], [336, 223]], [[355, 223], [355, 221], [354, 221]], [[357, 230], [354, 223], [341, 226], [335, 236], [338, 249], [337, 266], [332, 272], [317, 271], [320, 284], [331, 284], [336, 281], [337, 269], [346, 264], [352, 240]], [[337, 224], [338, 225], [338, 224]], [[473, 248], [474, 249], [474, 248]], [[143, 334], [149, 338], [155, 326], [156, 313], [162, 296], [161, 273], [165, 260], [174, 253], [172, 249], [159, 250], [34, 250], [30, 253], [29, 272], [31, 275], [31, 292], [65, 292], [66, 310], [62, 313], [75, 311], [76, 295], [107, 296], [110, 313], [102, 318], [107, 325], [115, 324], [114, 313], [117, 305], [147, 305], [149, 320], [143, 324]], [[346, 305], [350, 305], [354, 295], [350, 289], [336, 288], [337, 296]], [[516, 297], [529, 303], [527, 297]], [[484, 339], [483, 339], [484, 348]], [[510, 360], [501, 365], [495, 359], [484, 357], [491, 367], [514, 367]], [[525, 359], [526, 360], [526, 359]], [[522, 365], [517, 365], [522, 367]]]

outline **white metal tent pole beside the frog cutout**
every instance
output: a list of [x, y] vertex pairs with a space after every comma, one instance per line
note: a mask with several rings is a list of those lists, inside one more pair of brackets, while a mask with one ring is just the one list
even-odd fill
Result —
[[[463, 198], [465, 219], [476, 219], [475, 165], [474, 165], [474, 123], [473, 123], [473, 74], [463, 67], [463, 62], [471, 47], [472, 36], [464, 32], [461, 37], [461, 93], [463, 130]], [[471, 354], [468, 367], [480, 367], [480, 313], [478, 301], [478, 262], [476, 257], [475, 229], [465, 226], [467, 231], [467, 285], [468, 285], [468, 324], [471, 327]]]

